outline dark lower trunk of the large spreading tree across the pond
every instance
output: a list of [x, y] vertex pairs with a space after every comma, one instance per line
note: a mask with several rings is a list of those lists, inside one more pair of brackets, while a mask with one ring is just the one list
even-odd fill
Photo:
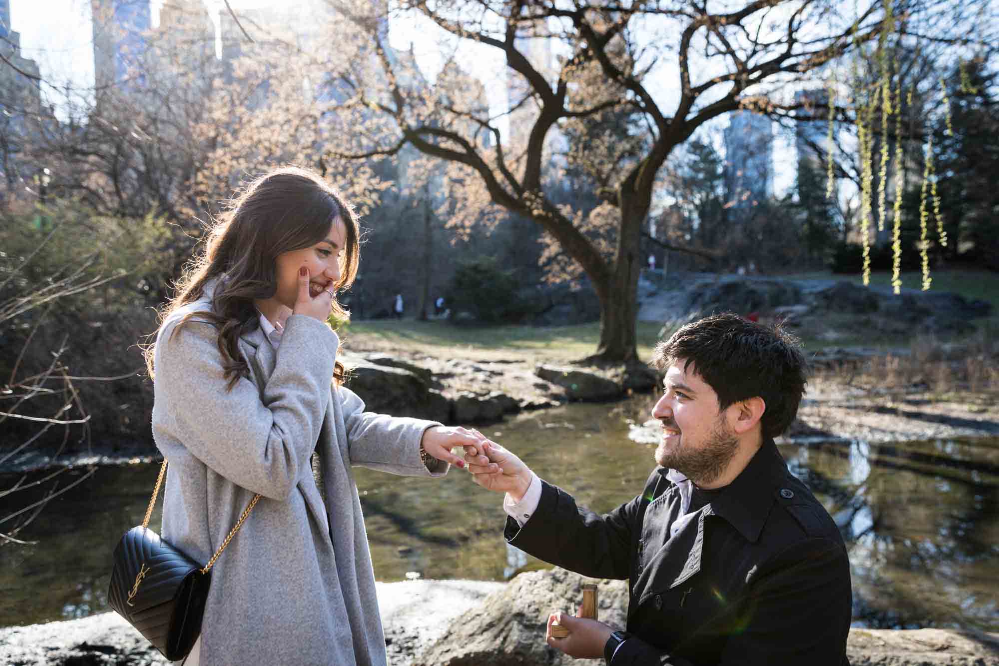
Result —
[[596, 288], [600, 298], [600, 342], [592, 357], [599, 361], [638, 360], [638, 272], [641, 270], [641, 223], [645, 213], [640, 205], [622, 202], [617, 252], [609, 279]]

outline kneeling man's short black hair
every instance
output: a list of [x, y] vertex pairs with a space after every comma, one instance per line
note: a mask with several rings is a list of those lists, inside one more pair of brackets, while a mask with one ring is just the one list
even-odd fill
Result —
[[652, 363], [665, 370], [678, 360], [694, 365], [718, 395], [719, 410], [759, 396], [766, 403], [760, 418], [763, 437], [784, 432], [798, 413], [808, 363], [794, 336], [779, 324], [768, 326], [725, 313], [686, 324], [660, 341]]

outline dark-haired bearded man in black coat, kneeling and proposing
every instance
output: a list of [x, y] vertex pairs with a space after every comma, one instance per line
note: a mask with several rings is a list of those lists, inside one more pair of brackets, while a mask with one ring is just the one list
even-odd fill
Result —
[[[476, 482], [505, 493], [504, 536], [584, 576], [628, 579], [627, 626], [552, 613], [547, 642], [611, 666], [848, 664], [851, 590], [835, 522], [773, 438], [804, 393], [806, 362], [779, 327], [736, 315], [660, 342], [662, 424], [642, 491], [604, 515], [489, 442], [466, 448]], [[482, 455], [490, 459], [484, 462]], [[565, 638], [551, 635], [563, 625]]]

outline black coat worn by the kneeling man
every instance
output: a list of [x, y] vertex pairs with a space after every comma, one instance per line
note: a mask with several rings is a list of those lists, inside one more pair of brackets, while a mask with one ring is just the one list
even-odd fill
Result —
[[612, 666], [849, 664], [843, 538], [773, 441], [672, 538], [680, 497], [667, 471], [602, 516], [542, 481], [537, 509], [522, 528], [508, 518], [506, 540], [584, 576], [629, 579], [634, 638]]

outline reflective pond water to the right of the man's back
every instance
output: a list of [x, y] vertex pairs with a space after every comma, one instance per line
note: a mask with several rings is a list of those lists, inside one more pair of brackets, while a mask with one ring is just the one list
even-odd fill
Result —
[[847, 541], [855, 624], [999, 627], [997, 445], [783, 447]]

